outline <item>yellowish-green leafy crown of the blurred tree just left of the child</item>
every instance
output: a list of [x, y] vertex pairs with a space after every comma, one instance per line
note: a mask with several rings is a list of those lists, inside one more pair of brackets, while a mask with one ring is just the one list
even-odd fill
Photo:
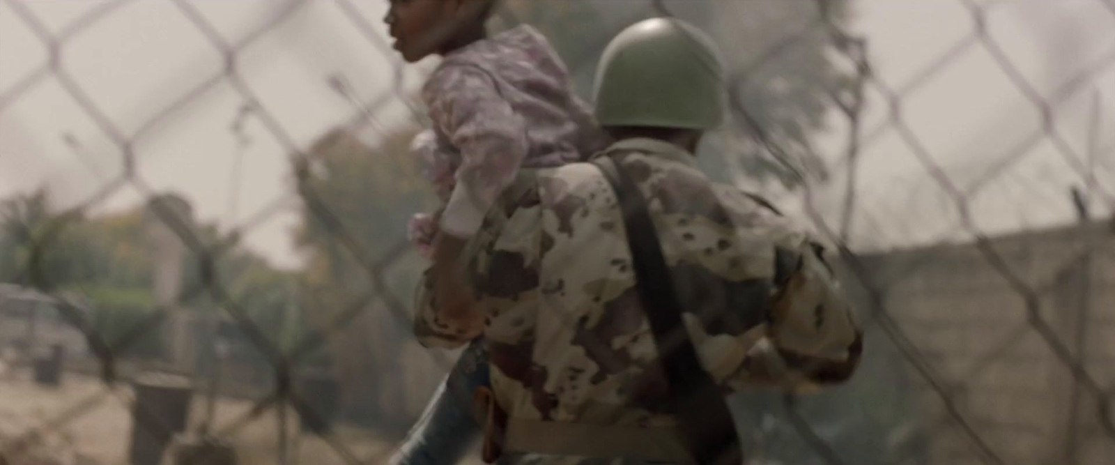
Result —
[[311, 149], [312, 168], [299, 168], [304, 202], [295, 239], [309, 255], [304, 283], [324, 301], [365, 292], [371, 264], [366, 261], [403, 244], [410, 215], [435, 206], [409, 151], [417, 132], [399, 128], [370, 146], [338, 130]]

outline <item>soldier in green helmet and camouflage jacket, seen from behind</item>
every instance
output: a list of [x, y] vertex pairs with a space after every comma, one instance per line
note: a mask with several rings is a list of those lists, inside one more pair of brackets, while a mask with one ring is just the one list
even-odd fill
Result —
[[618, 142], [593, 163], [522, 173], [458, 259], [468, 289], [419, 288], [424, 345], [485, 336], [486, 461], [738, 464], [723, 395], [854, 371], [861, 331], [823, 248], [695, 165], [726, 113], [723, 79], [691, 26], [621, 32], [595, 83]]

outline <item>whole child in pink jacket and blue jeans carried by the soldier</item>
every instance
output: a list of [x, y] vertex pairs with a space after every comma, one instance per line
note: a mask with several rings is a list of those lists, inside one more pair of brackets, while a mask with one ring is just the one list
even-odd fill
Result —
[[[444, 57], [421, 94], [433, 129], [420, 135], [414, 148], [433, 162], [427, 176], [445, 204], [410, 223], [411, 240], [433, 260], [435, 288], [462, 288], [446, 270], [456, 270], [453, 263], [464, 242], [479, 230], [484, 215], [521, 168], [578, 162], [608, 143], [541, 33], [521, 26], [487, 37], [485, 22], [494, 8], [495, 0], [391, 0], [385, 18], [395, 49], [406, 61]], [[445, 464], [459, 458], [460, 445], [479, 429], [459, 415], [469, 411], [475, 388], [487, 384], [486, 370], [473, 366], [477, 361], [486, 368], [483, 343], [474, 341], [392, 463]]]

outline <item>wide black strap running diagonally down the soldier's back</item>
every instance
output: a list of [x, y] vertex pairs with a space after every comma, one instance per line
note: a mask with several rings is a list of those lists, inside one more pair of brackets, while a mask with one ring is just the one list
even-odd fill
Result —
[[650, 322], [686, 444], [699, 465], [739, 465], [743, 452], [724, 394], [701, 366], [681, 321], [681, 302], [639, 187], [611, 157], [592, 161], [615, 191], [631, 249], [636, 287]]

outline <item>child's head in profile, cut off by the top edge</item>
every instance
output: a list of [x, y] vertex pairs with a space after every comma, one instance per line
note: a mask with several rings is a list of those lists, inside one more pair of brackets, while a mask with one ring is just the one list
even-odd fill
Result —
[[389, 0], [384, 18], [403, 59], [444, 55], [484, 37], [497, 0]]

